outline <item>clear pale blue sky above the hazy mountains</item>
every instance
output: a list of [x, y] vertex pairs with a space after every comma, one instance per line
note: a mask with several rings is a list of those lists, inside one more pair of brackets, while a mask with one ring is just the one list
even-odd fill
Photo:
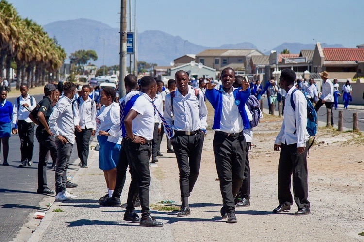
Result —
[[[8, 1], [41, 25], [89, 18], [120, 26], [120, 0]], [[162, 30], [209, 47], [251, 42], [264, 51], [313, 39], [354, 48], [364, 43], [364, 0], [136, 0], [136, 10], [139, 32]]]

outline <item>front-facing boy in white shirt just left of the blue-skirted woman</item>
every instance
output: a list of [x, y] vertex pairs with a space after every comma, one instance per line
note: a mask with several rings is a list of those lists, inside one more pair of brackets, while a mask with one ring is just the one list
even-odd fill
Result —
[[82, 86], [81, 96], [74, 100], [73, 115], [78, 157], [81, 168], [87, 168], [89, 143], [96, 130], [96, 104], [89, 97], [90, 87]]

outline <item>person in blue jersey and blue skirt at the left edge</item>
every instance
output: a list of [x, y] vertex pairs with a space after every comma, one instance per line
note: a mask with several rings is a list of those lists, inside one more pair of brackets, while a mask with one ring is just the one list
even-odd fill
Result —
[[[13, 105], [6, 101], [8, 92], [1, 90], [0, 92], [0, 153], [1, 143], [3, 151], [3, 163], [4, 166], [9, 166], [8, 155], [9, 155], [9, 138], [11, 136], [11, 120], [13, 115]], [[1, 160], [1, 159], [0, 159]]]

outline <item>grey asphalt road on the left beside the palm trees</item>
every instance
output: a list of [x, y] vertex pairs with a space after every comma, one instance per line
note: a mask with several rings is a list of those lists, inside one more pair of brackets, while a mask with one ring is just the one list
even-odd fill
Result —
[[[34, 96], [38, 101], [42, 95]], [[9, 98], [14, 104], [16, 98]], [[18, 230], [25, 224], [30, 212], [36, 212], [40, 208], [39, 202], [47, 195], [37, 194], [37, 167], [39, 157], [39, 145], [34, 137], [33, 166], [19, 168], [20, 164], [20, 140], [18, 135], [12, 135], [9, 140], [9, 164], [0, 165], [0, 241], [11, 241]], [[2, 152], [1, 152], [2, 155]], [[77, 158], [76, 147], [73, 147], [71, 163]], [[1, 156], [2, 164], [3, 157]], [[50, 159], [51, 166], [51, 159]], [[48, 186], [54, 190], [54, 171], [47, 170]]]

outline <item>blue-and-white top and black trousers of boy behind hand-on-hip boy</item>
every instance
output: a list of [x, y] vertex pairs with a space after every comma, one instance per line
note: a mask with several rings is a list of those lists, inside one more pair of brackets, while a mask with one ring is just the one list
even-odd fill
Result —
[[[121, 150], [119, 155], [119, 161], [116, 166], [116, 184], [115, 189], [113, 192], [112, 197], [116, 199], [120, 199], [121, 193], [124, 188], [125, 180], [126, 180], [126, 170], [129, 165], [129, 173], [132, 175], [133, 166], [129, 157], [128, 152], [128, 141], [125, 138], [126, 136], [126, 130], [124, 125], [124, 119], [126, 115], [128, 114], [129, 110], [134, 105], [136, 99], [139, 97], [139, 91], [130, 91], [127, 93], [123, 98], [119, 100], [119, 106], [120, 106], [120, 129], [121, 129]], [[133, 200], [133, 197], [136, 197], [138, 195], [138, 184], [136, 181], [136, 178], [132, 177], [132, 181], [129, 185], [129, 192], [128, 192], [128, 200]], [[128, 202], [127, 202], [128, 203]]]

